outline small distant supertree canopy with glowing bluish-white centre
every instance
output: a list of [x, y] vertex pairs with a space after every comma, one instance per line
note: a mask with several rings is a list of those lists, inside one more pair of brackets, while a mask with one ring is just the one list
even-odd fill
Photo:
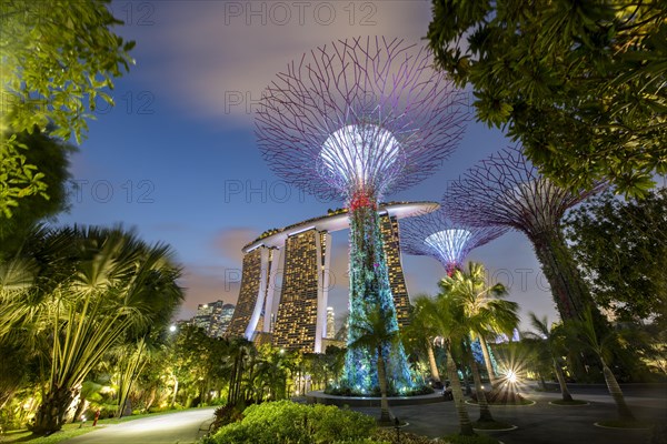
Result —
[[448, 275], [462, 266], [472, 249], [505, 234], [502, 225], [475, 226], [454, 222], [445, 206], [401, 224], [401, 250], [407, 254], [431, 256], [438, 260]]

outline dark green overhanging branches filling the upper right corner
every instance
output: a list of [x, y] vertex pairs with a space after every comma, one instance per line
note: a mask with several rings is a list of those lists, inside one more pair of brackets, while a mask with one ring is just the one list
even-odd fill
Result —
[[432, 0], [437, 63], [555, 182], [643, 195], [667, 172], [667, 3]]

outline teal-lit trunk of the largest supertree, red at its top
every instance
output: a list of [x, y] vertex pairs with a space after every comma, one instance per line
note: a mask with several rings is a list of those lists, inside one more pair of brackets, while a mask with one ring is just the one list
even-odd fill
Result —
[[[350, 327], [348, 344], [359, 339], [355, 329], [371, 305], [390, 313], [388, 331], [398, 331], [389, 272], [382, 248], [380, 219], [375, 199], [361, 194], [350, 203]], [[400, 341], [382, 345], [387, 361], [387, 376], [394, 389], [410, 389], [412, 381], [408, 361]], [[364, 347], [348, 347], [345, 380], [352, 391], [369, 393], [379, 386], [377, 354]]]

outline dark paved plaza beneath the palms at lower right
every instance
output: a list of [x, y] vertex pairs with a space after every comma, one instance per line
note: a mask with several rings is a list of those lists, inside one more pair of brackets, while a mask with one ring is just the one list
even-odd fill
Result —
[[[665, 422], [667, 418], [667, 385], [624, 386], [626, 401], [639, 420]], [[505, 444], [641, 444], [646, 443], [649, 431], [609, 430], [594, 425], [600, 420], [616, 417], [616, 404], [606, 386], [570, 387], [573, 396], [589, 401], [589, 405], [557, 406], [549, 401], [560, 398], [559, 393], [541, 393], [529, 391], [525, 396], [536, 401], [534, 405], [492, 406], [491, 413], [498, 421], [517, 425], [518, 428], [508, 432], [489, 433]], [[354, 407], [352, 410], [370, 415], [378, 415], [377, 407]], [[454, 403], [397, 406], [392, 413], [401, 421], [409, 423], [406, 432], [412, 432], [430, 437], [439, 437], [457, 433], [458, 420]], [[478, 407], [468, 405], [472, 421], [478, 417]]]

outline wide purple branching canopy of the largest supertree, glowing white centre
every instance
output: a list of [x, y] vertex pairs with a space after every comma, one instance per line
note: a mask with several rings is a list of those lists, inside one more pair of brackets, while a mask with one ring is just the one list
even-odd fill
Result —
[[430, 175], [468, 119], [465, 94], [402, 40], [340, 40], [288, 64], [262, 94], [260, 150], [280, 176], [322, 199], [376, 198]]

